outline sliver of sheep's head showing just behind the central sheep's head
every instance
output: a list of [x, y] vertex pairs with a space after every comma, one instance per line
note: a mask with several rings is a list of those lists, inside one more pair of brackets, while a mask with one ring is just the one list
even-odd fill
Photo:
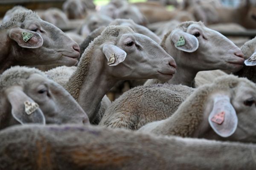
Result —
[[133, 20], [127, 20], [127, 19], [116, 19], [113, 20], [113, 22], [111, 22], [109, 24], [109, 26], [111, 25], [115, 25], [115, 26], [128, 26], [130, 27], [134, 32], [137, 32], [139, 34], [143, 34], [145, 36], [148, 36], [149, 38], [151, 38], [152, 40], [154, 40], [155, 42], [157, 42], [158, 44], [160, 43], [160, 38], [154, 34], [154, 32], [150, 31], [148, 28], [144, 27], [144, 26], [140, 26], [136, 23], [134, 23]]

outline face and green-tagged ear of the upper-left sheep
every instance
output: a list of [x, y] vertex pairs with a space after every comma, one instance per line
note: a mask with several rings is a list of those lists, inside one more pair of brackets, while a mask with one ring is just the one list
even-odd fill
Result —
[[[20, 26], [9, 29], [15, 59], [23, 65], [75, 65], [80, 55], [79, 45], [59, 28], [41, 19], [28, 18]], [[22, 34], [33, 36], [24, 42]]]

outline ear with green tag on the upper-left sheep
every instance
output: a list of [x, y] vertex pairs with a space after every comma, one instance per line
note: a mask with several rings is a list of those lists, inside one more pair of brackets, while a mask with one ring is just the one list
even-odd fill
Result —
[[37, 32], [21, 28], [12, 28], [9, 31], [9, 37], [23, 48], [39, 48], [44, 42], [41, 35]]

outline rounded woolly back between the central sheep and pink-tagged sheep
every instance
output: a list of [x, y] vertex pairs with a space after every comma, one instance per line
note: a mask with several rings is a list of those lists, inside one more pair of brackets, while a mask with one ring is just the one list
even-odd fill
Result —
[[167, 83], [133, 88], [108, 107], [99, 125], [137, 130], [171, 116], [193, 91], [185, 85]]

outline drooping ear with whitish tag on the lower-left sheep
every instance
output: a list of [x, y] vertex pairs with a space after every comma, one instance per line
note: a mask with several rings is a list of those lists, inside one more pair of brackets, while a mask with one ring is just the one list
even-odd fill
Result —
[[40, 123], [45, 125], [44, 114], [20, 86], [6, 89], [7, 99], [12, 105], [12, 116], [21, 124]]

